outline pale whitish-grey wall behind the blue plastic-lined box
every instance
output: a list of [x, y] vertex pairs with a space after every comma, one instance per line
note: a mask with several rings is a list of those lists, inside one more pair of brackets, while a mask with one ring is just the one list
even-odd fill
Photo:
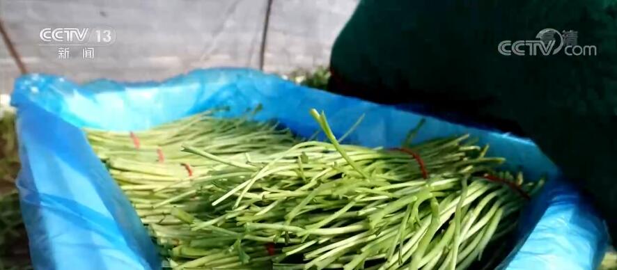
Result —
[[[331, 45], [358, 0], [272, 0], [264, 47], [266, 72], [327, 65]], [[106, 77], [161, 80], [198, 67], [260, 68], [267, 0], [0, 0], [0, 21], [28, 72], [76, 81]], [[95, 47], [93, 59], [58, 58], [39, 45], [45, 27], [101, 27], [116, 42]], [[0, 40], [0, 93], [19, 70]]]

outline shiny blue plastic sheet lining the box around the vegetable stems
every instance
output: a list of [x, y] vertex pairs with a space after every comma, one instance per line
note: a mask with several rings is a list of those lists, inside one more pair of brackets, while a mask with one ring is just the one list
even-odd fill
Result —
[[297, 86], [255, 70], [196, 70], [161, 83], [84, 85], [30, 74], [17, 79], [12, 103], [22, 159], [17, 184], [36, 269], [159, 269], [146, 230], [80, 128], [148, 129], [224, 105], [232, 109], [226, 116], [234, 116], [262, 104], [257, 120], [276, 119], [303, 136], [318, 129], [311, 108], [327, 113], [335, 133], [364, 113], [349, 141], [367, 146], [400, 145], [421, 118], [427, 121], [417, 141], [469, 133], [528, 179], [549, 177], [524, 210], [520, 241], [502, 267], [595, 269], [607, 246], [602, 220], [531, 141]]

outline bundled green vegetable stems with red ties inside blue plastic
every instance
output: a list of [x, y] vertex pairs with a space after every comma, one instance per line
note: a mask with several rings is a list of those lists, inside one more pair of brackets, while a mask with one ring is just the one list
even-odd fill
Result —
[[[207, 111], [145, 132], [87, 130], [173, 269], [465, 269], [540, 182], [495, 173], [467, 136], [386, 150], [304, 141]], [[352, 128], [353, 129], [353, 128]], [[486, 255], [485, 255], [486, 256]]]

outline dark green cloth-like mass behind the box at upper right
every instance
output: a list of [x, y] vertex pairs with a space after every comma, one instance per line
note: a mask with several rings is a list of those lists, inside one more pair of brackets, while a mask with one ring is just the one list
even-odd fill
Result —
[[[425, 104], [431, 113], [455, 113], [532, 138], [590, 196], [615, 237], [616, 3], [360, 1], [335, 42], [329, 90]], [[547, 28], [577, 31], [578, 45], [595, 45], [597, 55], [497, 50], [502, 40], [538, 40]]]

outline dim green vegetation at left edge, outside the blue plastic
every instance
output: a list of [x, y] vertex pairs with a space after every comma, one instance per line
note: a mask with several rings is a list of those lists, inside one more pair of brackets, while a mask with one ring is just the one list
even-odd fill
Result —
[[31, 269], [28, 239], [15, 189], [18, 171], [15, 115], [6, 112], [0, 116], [0, 269]]

